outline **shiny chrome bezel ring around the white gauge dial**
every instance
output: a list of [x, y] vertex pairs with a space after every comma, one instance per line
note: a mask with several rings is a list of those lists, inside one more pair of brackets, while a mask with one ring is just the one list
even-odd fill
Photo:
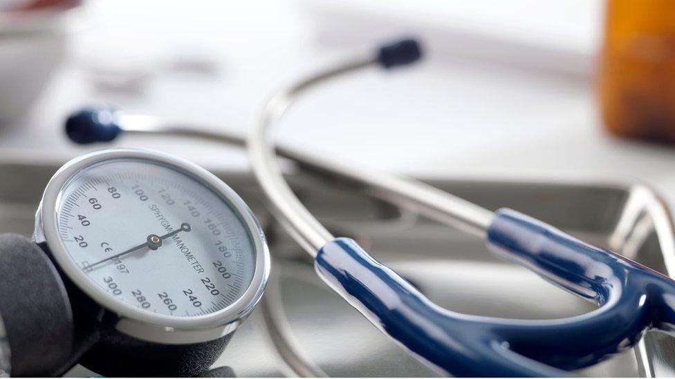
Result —
[[[172, 316], [151, 313], [120, 302], [96, 286], [68, 255], [57, 229], [57, 204], [73, 175], [84, 168], [112, 159], [140, 159], [163, 164], [209, 186], [239, 213], [250, 233], [255, 253], [255, 272], [248, 289], [224, 309], [197, 316]], [[270, 254], [263, 231], [241, 197], [209, 171], [185, 159], [156, 150], [111, 148], [82, 155], [64, 164], [48, 182], [36, 215], [35, 241], [44, 242], [59, 268], [86, 295], [119, 316], [116, 328], [122, 333], [152, 342], [185, 344], [214, 340], [234, 331], [259, 302], [270, 273]]]

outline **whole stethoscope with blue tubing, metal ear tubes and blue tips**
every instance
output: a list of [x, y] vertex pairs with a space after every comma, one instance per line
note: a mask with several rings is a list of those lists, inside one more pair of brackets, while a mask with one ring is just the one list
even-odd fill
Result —
[[[376, 173], [275, 145], [272, 127], [301, 95], [351, 72], [372, 66], [405, 66], [419, 58], [418, 43], [403, 40], [382, 46], [374, 55], [308, 76], [268, 101], [246, 140], [98, 108], [71, 116], [66, 131], [80, 144], [112, 141], [124, 132], [163, 133], [246, 146], [273, 214], [314, 258], [317, 274], [382, 333], [445, 374], [566, 376], [566, 370], [588, 367], [629, 349], [647, 329], [673, 331], [675, 282], [665, 275], [517, 211], [503, 208], [493, 213], [414, 179]], [[599, 308], [555, 320], [512, 320], [465, 315], [438, 307], [357, 242], [331, 235], [291, 191], [277, 156], [485, 238], [493, 253], [526, 266], [553, 284], [595, 302]]]

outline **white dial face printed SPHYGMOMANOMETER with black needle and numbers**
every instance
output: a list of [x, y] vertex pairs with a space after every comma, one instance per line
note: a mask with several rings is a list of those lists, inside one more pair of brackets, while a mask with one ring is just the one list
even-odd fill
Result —
[[187, 317], [225, 309], [252, 281], [255, 248], [234, 209], [178, 168], [111, 159], [66, 182], [56, 217], [68, 255], [100, 291]]

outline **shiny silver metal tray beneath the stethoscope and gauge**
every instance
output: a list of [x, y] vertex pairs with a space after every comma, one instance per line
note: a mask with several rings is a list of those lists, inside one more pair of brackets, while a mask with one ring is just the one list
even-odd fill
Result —
[[[0, 163], [0, 231], [33, 233], [37, 202], [57, 166]], [[275, 224], [247, 173], [218, 173], [250, 204], [273, 255], [263, 304], [218, 361], [239, 376], [435, 376], [373, 328], [315, 275], [311, 261]], [[8, 179], [10, 178], [10, 179]], [[481, 240], [371, 200], [353, 188], [305, 175], [294, 189], [336, 235], [358, 239], [434, 302], [476, 315], [556, 318], [593, 309], [515, 264], [490, 255]], [[495, 209], [517, 209], [582, 239], [675, 273], [672, 223], [642, 186], [581, 182], [435, 180], [432, 185]], [[647, 333], [633, 349], [584, 369], [584, 376], [673, 376], [675, 343]], [[284, 358], [284, 359], [281, 359]], [[299, 365], [298, 362], [304, 362]], [[71, 375], [86, 371], [75, 369]]]

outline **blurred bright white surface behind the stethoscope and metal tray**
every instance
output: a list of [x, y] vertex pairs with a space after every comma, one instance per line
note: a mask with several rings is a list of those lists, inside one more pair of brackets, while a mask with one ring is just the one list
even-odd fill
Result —
[[[279, 141], [411, 175], [592, 176], [675, 185], [675, 150], [616, 139], [593, 94], [602, 2], [91, 1], [61, 68], [30, 114], [0, 130], [3, 156], [64, 161], [62, 133], [85, 104], [246, 133], [275, 88], [382, 39], [418, 35], [425, 61], [364, 72], [308, 96]], [[179, 70], [177, 65], [200, 66]], [[111, 90], [111, 77], [136, 86]], [[17, 90], [19, 90], [17, 88]], [[235, 150], [123, 139], [210, 168]]]

